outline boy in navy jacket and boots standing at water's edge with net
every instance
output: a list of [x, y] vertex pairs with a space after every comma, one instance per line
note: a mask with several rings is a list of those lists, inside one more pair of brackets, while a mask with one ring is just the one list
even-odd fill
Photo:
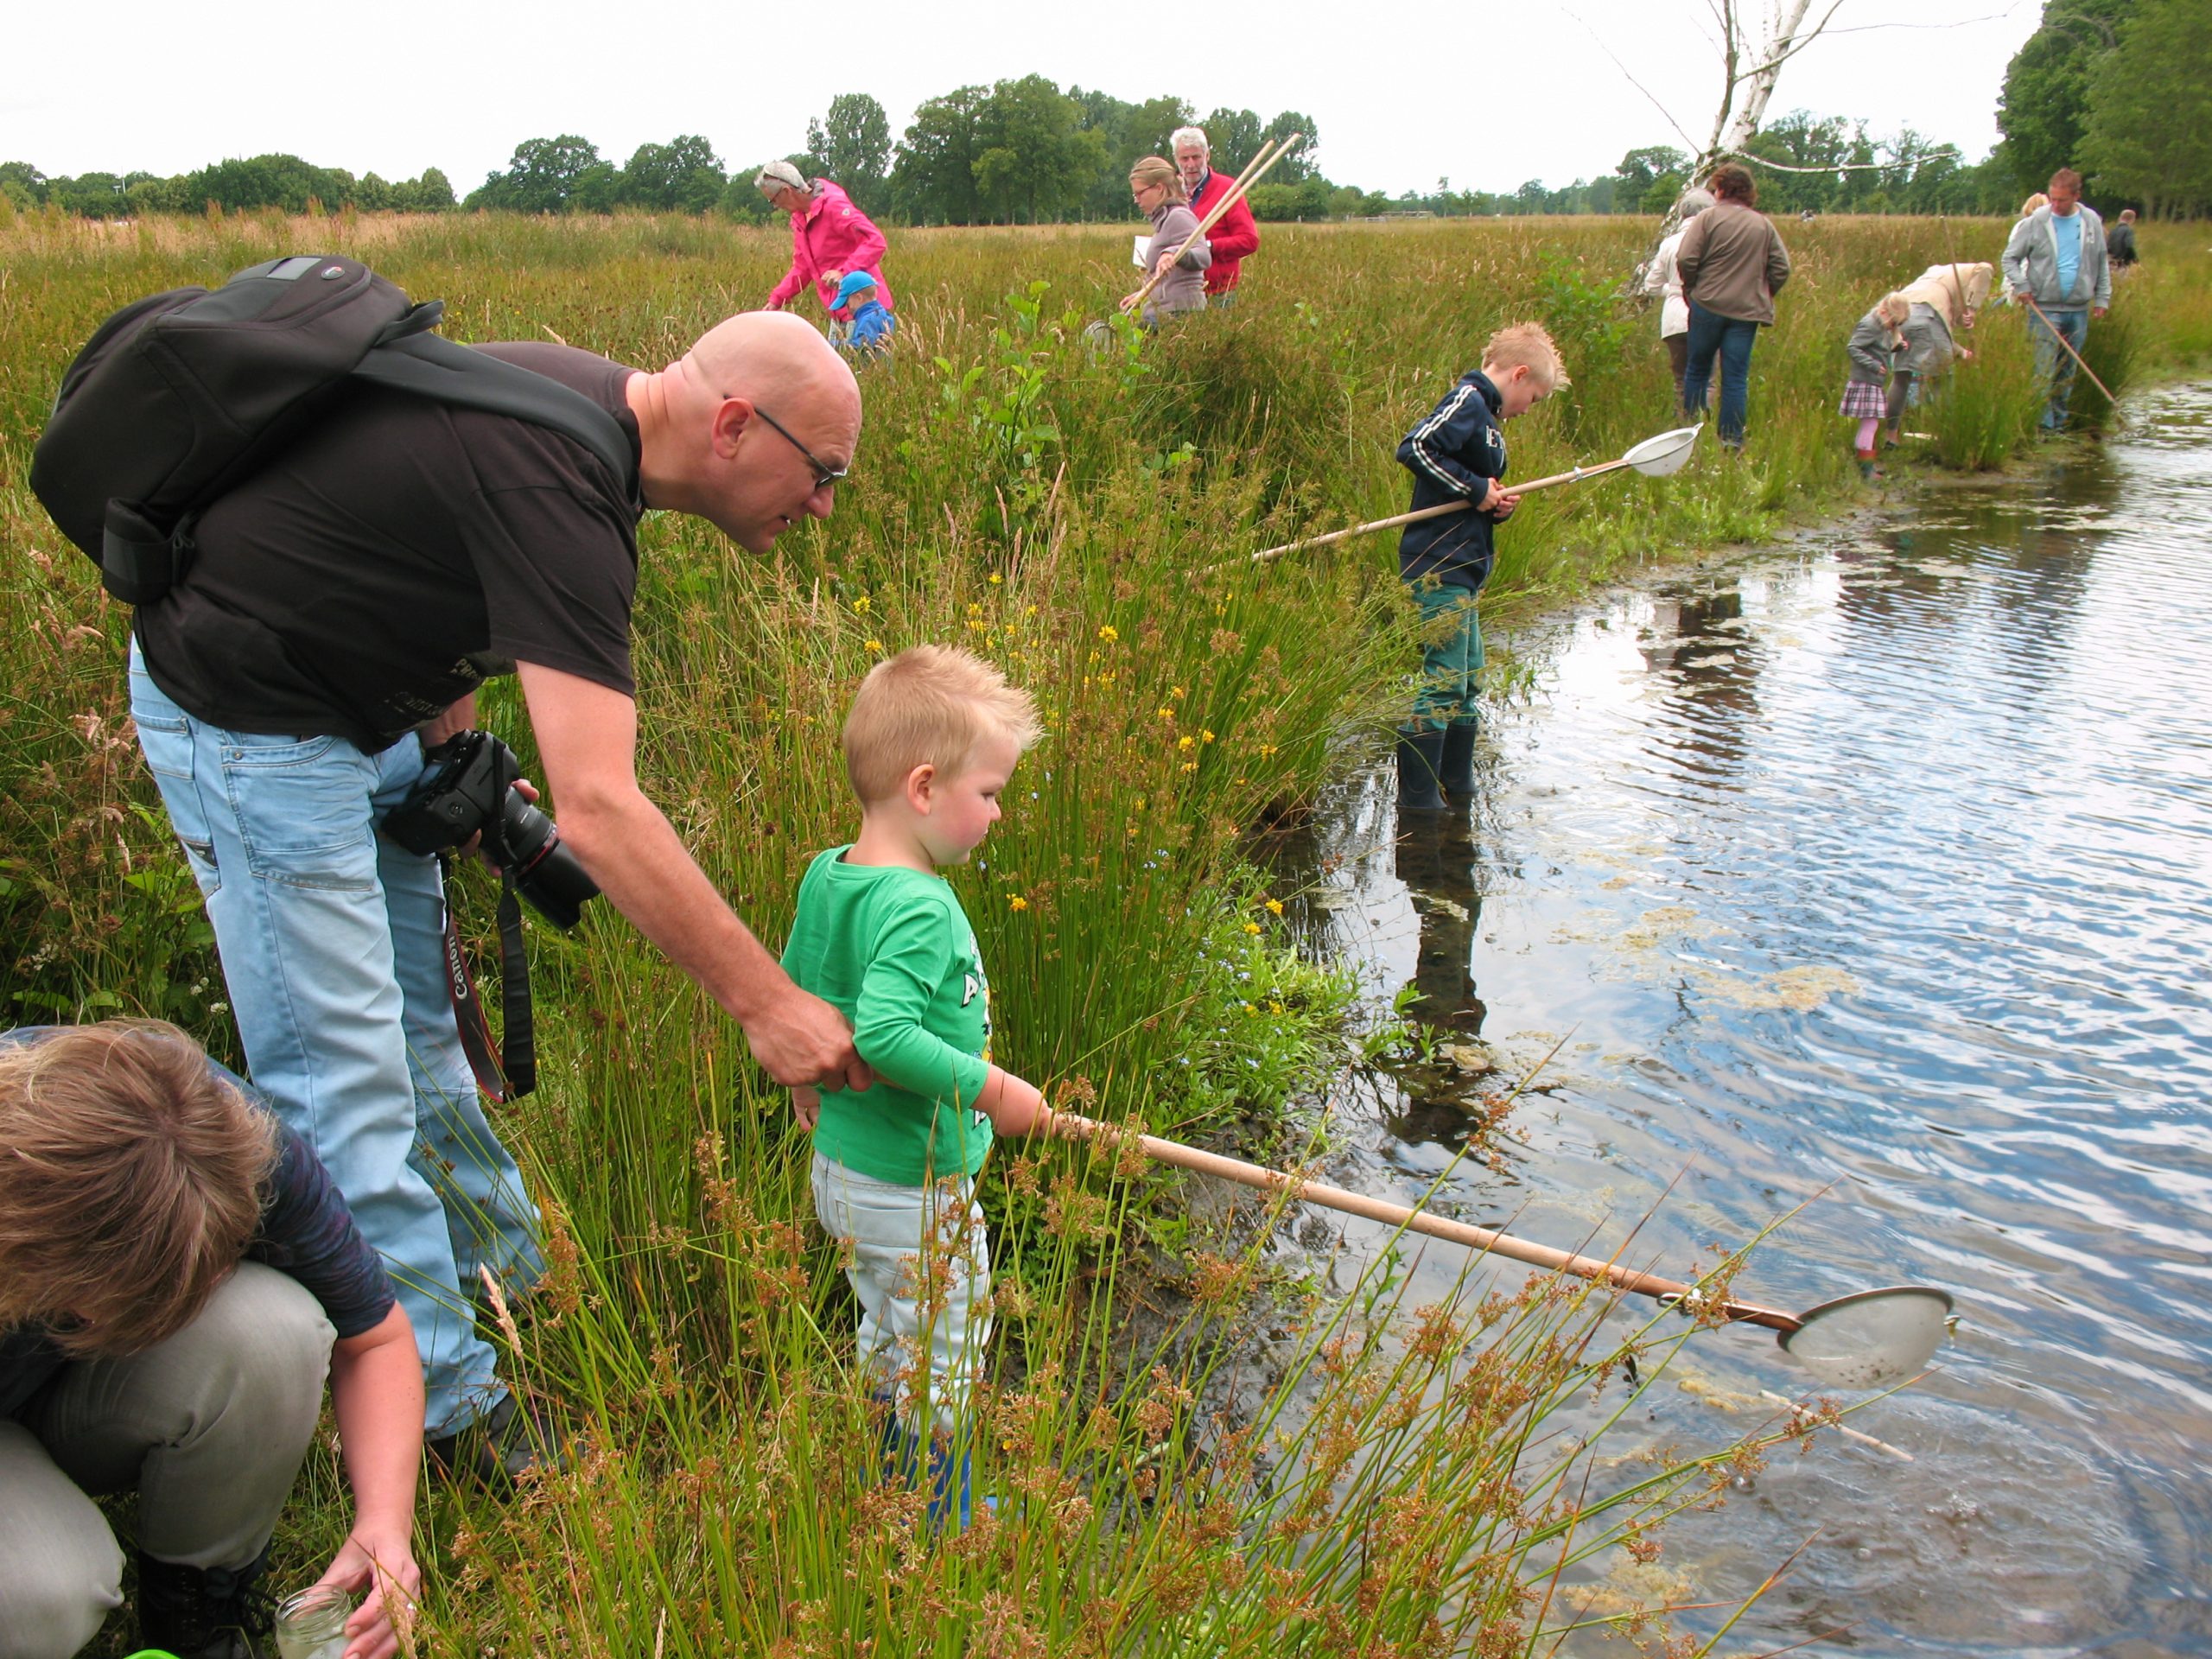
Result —
[[1475, 792], [1475, 675], [1482, 628], [1475, 595], [1491, 575], [1491, 535], [1520, 495], [1509, 495], [1506, 438], [1500, 422], [1526, 414], [1564, 387], [1559, 347], [1540, 323], [1491, 334], [1482, 367], [1464, 374], [1398, 445], [1413, 473], [1413, 511], [1464, 504], [1467, 511], [1407, 524], [1398, 575], [1420, 606], [1422, 675], [1413, 719], [1398, 728], [1398, 810], [1442, 812], [1442, 790]]

